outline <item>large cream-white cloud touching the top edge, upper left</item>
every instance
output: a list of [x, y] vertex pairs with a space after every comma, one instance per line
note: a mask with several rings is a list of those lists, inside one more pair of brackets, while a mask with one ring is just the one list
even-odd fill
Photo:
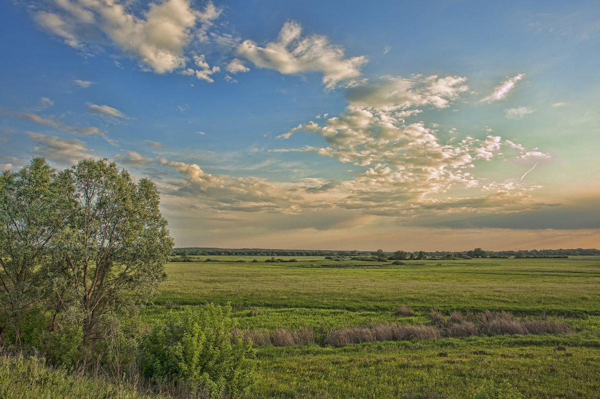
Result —
[[185, 47], [194, 35], [202, 40], [221, 13], [212, 2], [203, 11], [194, 10], [189, 0], [151, 3], [143, 17], [136, 16], [130, 7], [127, 2], [57, 0], [52, 10], [38, 11], [35, 20], [76, 48], [106, 44], [108, 38], [109, 44], [134, 56], [142, 65], [164, 73], [185, 67]]

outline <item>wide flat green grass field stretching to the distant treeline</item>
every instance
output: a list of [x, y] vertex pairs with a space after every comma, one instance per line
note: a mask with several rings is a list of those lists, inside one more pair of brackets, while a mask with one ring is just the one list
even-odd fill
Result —
[[[526, 398], [600, 397], [600, 257], [377, 266], [211, 258], [221, 262], [167, 264], [170, 279], [145, 321], [229, 301], [242, 329], [312, 330], [315, 343], [256, 347], [253, 398], [470, 398], [484, 379], [508, 380]], [[400, 305], [414, 315], [397, 315]], [[506, 310], [517, 319], [562, 322], [574, 333], [325, 344], [344, 327], [430, 325], [431, 308], [446, 316]]]

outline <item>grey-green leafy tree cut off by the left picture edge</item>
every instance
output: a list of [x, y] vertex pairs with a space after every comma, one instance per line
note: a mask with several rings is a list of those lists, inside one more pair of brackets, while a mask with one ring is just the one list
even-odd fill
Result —
[[44, 252], [64, 222], [59, 192], [56, 172], [43, 158], [0, 174], [0, 333], [17, 344], [25, 316], [40, 306]]

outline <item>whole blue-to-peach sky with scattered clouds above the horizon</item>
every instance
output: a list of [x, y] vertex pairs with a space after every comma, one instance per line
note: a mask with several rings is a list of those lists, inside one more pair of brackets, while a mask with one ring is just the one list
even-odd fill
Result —
[[110, 159], [177, 247], [600, 247], [600, 3], [7, 0], [0, 170]]

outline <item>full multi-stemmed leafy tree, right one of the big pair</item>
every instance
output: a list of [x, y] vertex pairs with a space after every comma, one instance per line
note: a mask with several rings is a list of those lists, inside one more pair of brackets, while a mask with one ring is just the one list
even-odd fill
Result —
[[67, 217], [52, 242], [47, 276], [55, 322], [83, 328], [83, 342], [107, 335], [111, 316], [129, 315], [166, 279], [173, 249], [156, 185], [131, 181], [106, 160], [60, 174]]

